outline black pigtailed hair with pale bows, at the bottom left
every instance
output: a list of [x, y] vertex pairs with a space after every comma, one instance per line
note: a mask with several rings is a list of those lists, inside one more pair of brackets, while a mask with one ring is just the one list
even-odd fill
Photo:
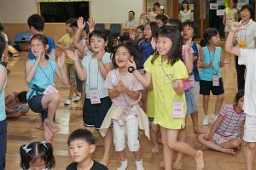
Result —
[[46, 169], [55, 167], [55, 157], [51, 144], [43, 142], [32, 142], [20, 146], [20, 167], [24, 170], [30, 169], [29, 163], [44, 160]]

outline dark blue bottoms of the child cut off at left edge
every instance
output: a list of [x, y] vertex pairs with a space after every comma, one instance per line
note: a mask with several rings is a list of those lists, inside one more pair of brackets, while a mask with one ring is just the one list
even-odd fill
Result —
[[7, 148], [7, 120], [0, 121], [0, 170], [5, 169], [5, 156]]

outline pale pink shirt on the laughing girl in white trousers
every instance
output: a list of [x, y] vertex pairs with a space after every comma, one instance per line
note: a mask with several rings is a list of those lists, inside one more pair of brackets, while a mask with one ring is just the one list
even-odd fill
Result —
[[[113, 86], [116, 86], [120, 81], [122, 81], [125, 87], [131, 91], [143, 90], [143, 85], [137, 81], [133, 74], [127, 72], [125, 76], [121, 76], [119, 75], [119, 69], [114, 69], [113, 71], [108, 72], [104, 88], [113, 89]], [[127, 94], [121, 93], [118, 97], [111, 100], [113, 105], [136, 105], [140, 99], [141, 94], [139, 99], [135, 100], [131, 99]]]

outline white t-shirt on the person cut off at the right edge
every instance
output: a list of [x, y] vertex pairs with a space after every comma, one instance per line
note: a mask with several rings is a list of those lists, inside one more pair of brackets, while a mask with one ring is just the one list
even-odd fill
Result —
[[246, 114], [256, 116], [256, 49], [240, 48], [240, 53], [238, 64], [247, 67], [242, 109]]

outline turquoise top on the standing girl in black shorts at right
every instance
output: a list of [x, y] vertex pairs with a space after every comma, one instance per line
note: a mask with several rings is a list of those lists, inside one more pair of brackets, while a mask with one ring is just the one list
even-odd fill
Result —
[[220, 47], [215, 47], [214, 52], [210, 52], [208, 46], [202, 48], [202, 52], [204, 54], [203, 63], [208, 65], [212, 60], [213, 65], [210, 68], [202, 68], [201, 69], [201, 80], [212, 81], [212, 76], [221, 77], [220, 74], [220, 57], [222, 49]]

